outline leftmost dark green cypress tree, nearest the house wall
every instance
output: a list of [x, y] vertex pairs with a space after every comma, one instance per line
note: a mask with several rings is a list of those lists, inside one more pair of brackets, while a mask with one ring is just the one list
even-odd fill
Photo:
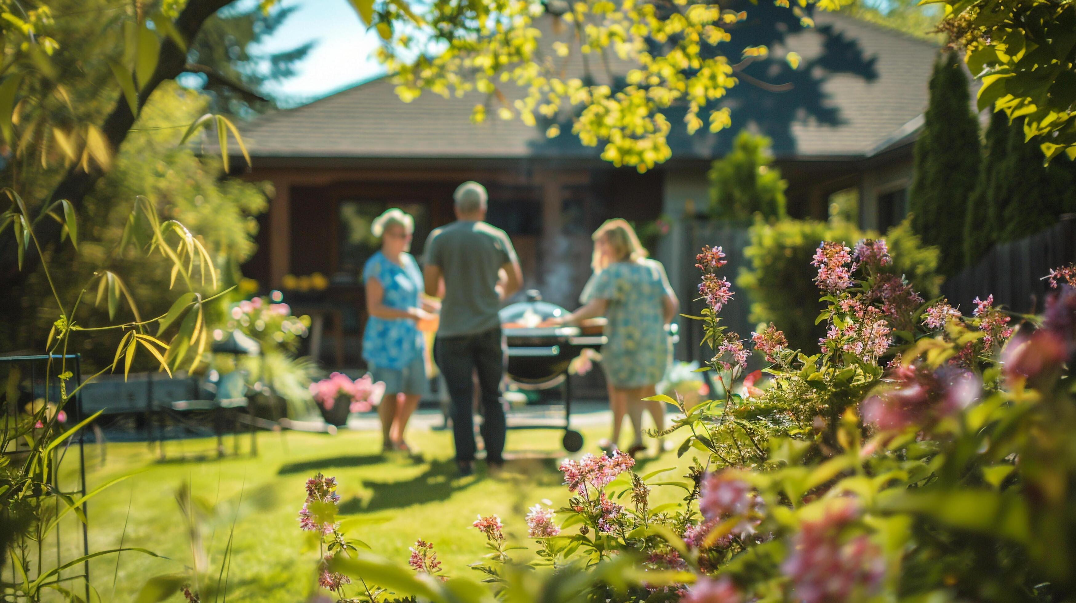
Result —
[[967, 200], [979, 174], [979, 124], [972, 112], [967, 76], [955, 52], [934, 66], [923, 131], [916, 141], [911, 227], [942, 252], [938, 268], [957, 272], [964, 262]]

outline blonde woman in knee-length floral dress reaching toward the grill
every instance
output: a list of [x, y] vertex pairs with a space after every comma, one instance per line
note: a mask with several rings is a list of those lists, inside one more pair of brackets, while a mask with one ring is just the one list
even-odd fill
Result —
[[645, 450], [642, 411], [648, 409], [659, 431], [665, 427], [665, 409], [660, 402], [642, 402], [654, 395], [671, 356], [666, 325], [676, 317], [679, 302], [660, 262], [647, 258], [635, 229], [621, 219], [609, 220], [595, 230], [593, 276], [580, 296], [581, 308], [557, 323], [577, 323], [606, 317], [601, 366], [609, 388], [612, 409], [612, 438], [618, 446], [624, 415], [632, 418], [635, 438], [627, 449], [633, 455]]

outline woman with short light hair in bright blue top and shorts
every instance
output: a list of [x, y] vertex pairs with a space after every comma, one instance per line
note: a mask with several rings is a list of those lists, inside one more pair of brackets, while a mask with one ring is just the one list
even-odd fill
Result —
[[363, 267], [369, 313], [363, 359], [373, 380], [385, 383], [385, 395], [378, 406], [384, 450], [407, 451], [404, 430], [429, 390], [426, 342], [420, 326], [434, 319], [429, 312], [435, 308], [421, 300], [422, 269], [408, 253], [414, 220], [393, 208], [379, 215], [370, 230], [381, 238], [381, 250]]

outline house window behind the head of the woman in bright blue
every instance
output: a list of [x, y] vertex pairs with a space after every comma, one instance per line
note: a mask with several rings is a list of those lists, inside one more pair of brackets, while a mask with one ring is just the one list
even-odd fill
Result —
[[387, 201], [340, 201], [339, 237], [340, 257], [339, 272], [359, 277], [363, 265], [371, 255], [381, 249], [381, 239], [370, 233], [373, 219], [388, 208], [400, 208], [414, 218], [414, 239], [411, 242], [411, 253], [419, 257], [422, 246], [429, 234], [429, 210], [425, 204], [387, 202]]

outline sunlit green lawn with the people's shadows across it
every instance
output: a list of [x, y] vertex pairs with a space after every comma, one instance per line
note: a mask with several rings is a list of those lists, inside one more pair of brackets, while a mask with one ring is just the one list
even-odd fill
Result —
[[[587, 446], [583, 451], [597, 451], [594, 443], [606, 433], [605, 426], [584, 430]], [[541, 499], [556, 506], [567, 501], [556, 471], [564, 451], [560, 432], [511, 431], [508, 448], [519, 458], [501, 475], [487, 476], [484, 466], [479, 466], [476, 475], [458, 478], [451, 437], [451, 432], [413, 430], [409, 439], [422, 452], [410, 458], [383, 457], [380, 434], [349, 431], [335, 436], [263, 433], [258, 457], [223, 460], [178, 459], [181, 448], [188, 455], [211, 450], [211, 440], [171, 441], [169, 455], [176, 460], [168, 462], [157, 462], [145, 444], [134, 443], [109, 444], [101, 463], [100, 450], [90, 447], [90, 488], [133, 474], [90, 503], [90, 550], [116, 547], [123, 535], [125, 546], [144, 547], [169, 558], [124, 553], [114, 590], [116, 558], [101, 558], [93, 563], [93, 584], [105, 601], [130, 601], [147, 577], [181, 572], [192, 563], [190, 538], [174, 497], [181, 483], [189, 480], [202, 505], [217, 511], [216, 519], [207, 521], [203, 534], [214, 569], [220, 566], [235, 518], [228, 601], [302, 601], [316, 551], [310, 550], [296, 516], [305, 496], [303, 481], [318, 471], [336, 476], [343, 514], [385, 518], [350, 536], [401, 562], [407, 560], [408, 547], [422, 537], [435, 545], [450, 574], [471, 573], [467, 564], [486, 552], [480, 534], [468, 529], [478, 514], [500, 515], [510, 537], [522, 539], [527, 507]], [[227, 444], [230, 447], [230, 438]], [[686, 462], [665, 453], [640, 461], [639, 471], [685, 466]], [[656, 493], [659, 502], [683, 495], [674, 487], [663, 490]]]

